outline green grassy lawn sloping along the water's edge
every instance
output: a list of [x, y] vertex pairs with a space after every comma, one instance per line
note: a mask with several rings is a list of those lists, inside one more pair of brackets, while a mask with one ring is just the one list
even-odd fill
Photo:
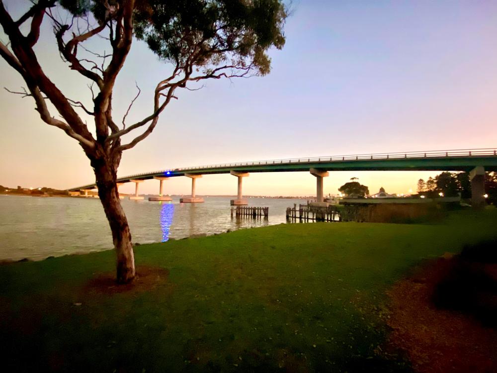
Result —
[[[145, 289], [100, 291], [112, 251], [0, 266], [6, 371], [409, 371], [378, 354], [384, 291], [496, 235], [497, 211], [438, 224], [284, 224], [136, 247]], [[408, 301], [409, 294], [406, 294]], [[80, 305], [81, 303], [81, 305]]]

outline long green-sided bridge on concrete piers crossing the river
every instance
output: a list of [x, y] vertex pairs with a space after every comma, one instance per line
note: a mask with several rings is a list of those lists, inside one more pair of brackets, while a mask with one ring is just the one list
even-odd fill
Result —
[[[497, 148], [457, 149], [420, 151], [408, 153], [355, 154], [329, 157], [309, 157], [279, 159], [255, 162], [226, 163], [208, 166], [196, 166], [177, 169], [153, 171], [135, 174], [117, 179], [118, 186], [123, 183], [135, 183], [135, 195], [130, 199], [143, 199], [138, 195], [138, 186], [145, 180], [160, 181], [159, 197], [155, 200], [170, 200], [163, 195], [163, 182], [173, 177], [191, 179], [191, 196], [181, 198], [181, 202], [203, 202], [195, 195], [195, 181], [202, 175], [231, 174], [238, 178], [237, 199], [232, 204], [247, 204], [242, 195], [242, 180], [254, 172], [310, 172], [316, 177], [317, 201], [323, 202], [323, 178], [332, 171], [466, 171], [470, 172], [472, 203], [481, 206], [484, 203], [485, 171], [497, 171]], [[75, 187], [69, 191], [83, 191], [96, 188], [96, 184]]]

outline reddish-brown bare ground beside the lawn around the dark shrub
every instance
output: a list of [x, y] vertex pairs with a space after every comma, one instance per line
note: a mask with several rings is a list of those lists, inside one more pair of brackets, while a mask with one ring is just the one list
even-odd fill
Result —
[[[388, 291], [391, 303], [387, 323], [393, 329], [389, 348], [404, 350], [415, 372], [497, 372], [497, 330], [484, 326], [471, 312], [476, 306], [471, 301], [478, 294], [464, 286], [457, 294], [456, 288], [454, 296], [461, 300], [466, 308], [464, 312], [435, 306], [434, 296], [438, 294], [439, 284], [454, 277], [460, 262], [459, 257], [450, 256], [429, 262], [413, 277], [399, 281]], [[482, 271], [481, 266], [478, 271]], [[490, 281], [495, 275], [493, 266], [486, 266], [492, 271]], [[479, 274], [481, 276], [481, 272]], [[471, 275], [465, 273], [464, 276], [464, 283], [471, 283], [468, 278]], [[460, 283], [454, 283], [460, 286]], [[464, 304], [465, 297], [470, 299], [468, 295], [472, 300]], [[484, 295], [490, 297], [491, 306], [497, 305], [495, 293]], [[497, 314], [494, 316], [497, 318]]]

